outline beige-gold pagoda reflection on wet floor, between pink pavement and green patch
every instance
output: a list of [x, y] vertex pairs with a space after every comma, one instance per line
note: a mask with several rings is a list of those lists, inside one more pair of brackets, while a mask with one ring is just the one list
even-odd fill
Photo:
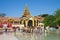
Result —
[[36, 33], [16, 33], [16, 37], [19, 40], [42, 40], [42, 34]]

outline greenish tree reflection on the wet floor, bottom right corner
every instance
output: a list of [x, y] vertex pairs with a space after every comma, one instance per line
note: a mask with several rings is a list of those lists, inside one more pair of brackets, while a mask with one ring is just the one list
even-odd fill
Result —
[[44, 35], [44, 40], [60, 40], [60, 34], [46, 33]]

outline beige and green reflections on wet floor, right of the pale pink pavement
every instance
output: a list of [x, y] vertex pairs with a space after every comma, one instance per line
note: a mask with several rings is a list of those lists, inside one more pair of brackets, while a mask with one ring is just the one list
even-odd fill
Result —
[[19, 40], [60, 40], [60, 35], [56, 33], [16, 33]]

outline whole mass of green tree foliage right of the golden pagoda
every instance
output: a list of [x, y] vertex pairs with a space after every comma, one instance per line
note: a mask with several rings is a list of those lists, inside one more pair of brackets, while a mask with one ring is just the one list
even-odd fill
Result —
[[56, 10], [54, 15], [48, 15], [44, 16], [44, 20], [43, 23], [45, 24], [45, 26], [53, 26], [56, 27], [57, 25], [60, 26], [60, 9]]

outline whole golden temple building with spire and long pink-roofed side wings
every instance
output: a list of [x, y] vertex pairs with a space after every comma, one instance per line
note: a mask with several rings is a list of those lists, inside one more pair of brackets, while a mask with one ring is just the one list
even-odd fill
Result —
[[38, 23], [42, 22], [43, 18], [40, 16], [32, 16], [28, 10], [28, 6], [25, 7], [24, 13], [21, 18], [18, 17], [0, 17], [0, 23], [10, 22], [12, 24], [23, 24], [24, 27], [38, 26]]

